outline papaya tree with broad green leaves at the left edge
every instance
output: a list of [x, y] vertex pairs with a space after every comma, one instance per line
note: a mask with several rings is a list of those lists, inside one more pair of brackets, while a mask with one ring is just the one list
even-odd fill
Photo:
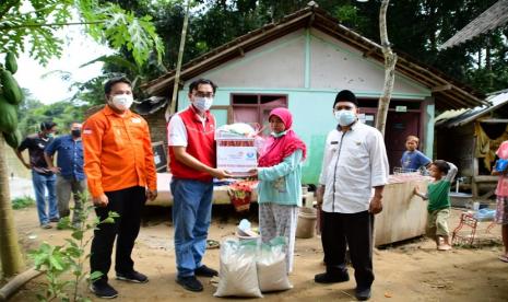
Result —
[[[150, 16], [134, 18], [118, 5], [99, 7], [96, 0], [0, 2], [0, 54], [15, 56], [28, 51], [39, 63], [47, 65], [50, 58], [58, 58], [62, 53], [63, 40], [58, 38], [57, 31], [71, 25], [83, 25], [90, 36], [98, 42], [107, 40], [114, 48], [125, 47], [132, 53], [138, 65], [146, 61], [152, 51], [162, 58], [162, 44]], [[3, 70], [3, 67], [0, 69]], [[2, 78], [2, 94], [8, 92], [7, 85]], [[12, 118], [17, 124], [17, 117]], [[11, 200], [3, 137], [10, 135], [4, 132], [0, 139], [0, 258], [5, 276], [12, 276], [23, 268], [12, 212], [9, 210]]]

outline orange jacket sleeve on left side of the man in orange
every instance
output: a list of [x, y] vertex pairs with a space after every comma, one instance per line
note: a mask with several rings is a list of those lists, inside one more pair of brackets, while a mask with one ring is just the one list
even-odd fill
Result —
[[105, 120], [92, 117], [85, 121], [82, 131], [84, 172], [92, 197], [99, 197], [104, 194], [101, 172], [101, 153], [106, 126], [104, 123]]

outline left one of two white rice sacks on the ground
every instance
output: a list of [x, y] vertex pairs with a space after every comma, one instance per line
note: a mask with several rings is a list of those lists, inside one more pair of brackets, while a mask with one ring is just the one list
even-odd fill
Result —
[[226, 240], [221, 244], [221, 267], [215, 297], [262, 298], [256, 270], [256, 241]]

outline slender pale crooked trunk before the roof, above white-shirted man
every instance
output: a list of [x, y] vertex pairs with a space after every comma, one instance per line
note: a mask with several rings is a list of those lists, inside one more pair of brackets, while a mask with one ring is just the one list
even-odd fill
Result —
[[388, 108], [390, 105], [391, 92], [393, 91], [393, 82], [395, 81], [397, 63], [397, 55], [391, 50], [390, 42], [388, 40], [387, 9], [389, 2], [389, 0], [382, 0], [381, 9], [379, 10], [379, 32], [381, 36], [382, 55], [385, 56], [385, 85], [382, 95], [379, 98], [376, 128], [382, 136], [385, 136]]

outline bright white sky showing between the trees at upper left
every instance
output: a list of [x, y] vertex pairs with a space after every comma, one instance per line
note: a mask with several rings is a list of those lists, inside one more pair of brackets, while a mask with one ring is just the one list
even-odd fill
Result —
[[[66, 31], [58, 33], [58, 36], [67, 38], [63, 46], [61, 58], [52, 59], [43, 67], [28, 54], [22, 54], [17, 59], [17, 72], [15, 78], [20, 85], [28, 89], [34, 98], [44, 104], [51, 104], [58, 101], [64, 101], [73, 95], [69, 86], [73, 81], [84, 82], [101, 74], [102, 62], [79, 68], [99, 56], [110, 55], [114, 51], [108, 47], [102, 46], [81, 32], [79, 26], [67, 27]], [[47, 77], [44, 74], [61, 70], [71, 72], [71, 81], [63, 81], [58, 73], [51, 73]]]

